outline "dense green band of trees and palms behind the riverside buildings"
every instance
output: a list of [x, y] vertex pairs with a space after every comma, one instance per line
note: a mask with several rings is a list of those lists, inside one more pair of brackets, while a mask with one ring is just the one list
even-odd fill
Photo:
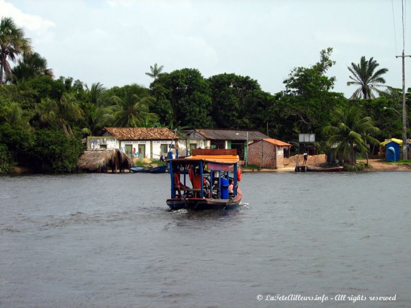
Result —
[[[153, 78], [149, 88], [132, 83], [107, 89], [99, 81], [87, 85], [55, 78], [22, 28], [7, 17], [0, 25], [0, 48], [0, 172], [15, 164], [39, 172], [72, 171], [84, 150], [82, 138], [98, 136], [107, 126], [257, 129], [294, 148], [298, 133], [310, 132], [324, 151], [341, 143], [345, 160], [352, 163], [353, 143], [362, 152], [376, 153], [376, 140], [401, 136], [401, 118], [384, 109], [400, 110], [402, 95], [400, 89], [384, 87], [387, 69], [377, 69], [372, 57], [352, 63], [346, 76], [338, 76], [358, 86], [345, 98], [333, 91], [336, 77], [327, 75], [336, 64], [332, 48], [322, 50], [317, 63], [292, 69], [284, 90], [273, 94], [249, 76], [206, 78], [195, 68], [165, 72], [157, 63], [146, 73]], [[382, 87], [373, 93], [376, 86]], [[344, 110], [356, 110], [358, 121], [346, 123]]]

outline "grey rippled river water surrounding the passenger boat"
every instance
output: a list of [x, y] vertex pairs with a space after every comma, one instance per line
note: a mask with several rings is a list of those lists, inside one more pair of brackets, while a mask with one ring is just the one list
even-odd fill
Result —
[[248, 173], [232, 211], [169, 211], [169, 182], [0, 177], [0, 307], [411, 307], [410, 172]]

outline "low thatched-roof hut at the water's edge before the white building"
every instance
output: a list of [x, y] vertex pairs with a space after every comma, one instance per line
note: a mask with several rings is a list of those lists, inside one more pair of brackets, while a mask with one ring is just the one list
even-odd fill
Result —
[[80, 157], [77, 167], [91, 172], [104, 172], [108, 168], [120, 172], [135, 167], [134, 162], [125, 153], [118, 149], [88, 150]]

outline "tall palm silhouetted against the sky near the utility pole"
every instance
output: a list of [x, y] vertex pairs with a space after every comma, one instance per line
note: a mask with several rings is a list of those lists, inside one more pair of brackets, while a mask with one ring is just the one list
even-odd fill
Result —
[[363, 99], [374, 99], [375, 95], [373, 91], [379, 94], [382, 93], [377, 87], [384, 86], [385, 79], [382, 78], [382, 74], [385, 74], [388, 69], [381, 68], [375, 72], [378, 66], [379, 64], [373, 60], [372, 57], [367, 61], [365, 60], [365, 56], [361, 57], [359, 64], [351, 63], [351, 67], [348, 66], [348, 70], [353, 74], [353, 76], [349, 76], [349, 78], [353, 81], [347, 82], [347, 86], [359, 86], [351, 95], [351, 99], [361, 97]]

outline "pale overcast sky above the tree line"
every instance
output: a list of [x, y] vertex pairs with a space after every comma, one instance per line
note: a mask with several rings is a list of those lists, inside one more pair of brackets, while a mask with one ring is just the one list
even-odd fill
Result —
[[[405, 54], [411, 54], [404, 1]], [[284, 89], [291, 69], [319, 61], [332, 47], [334, 90], [349, 97], [347, 66], [361, 56], [388, 68], [386, 84], [402, 87], [401, 0], [137, 1], [0, 0], [0, 15], [23, 27], [54, 75], [105, 87], [148, 87], [150, 66], [196, 68], [209, 76], [248, 75], [264, 91]], [[409, 35], [408, 35], [409, 36]], [[411, 86], [411, 58], [405, 60]]]

